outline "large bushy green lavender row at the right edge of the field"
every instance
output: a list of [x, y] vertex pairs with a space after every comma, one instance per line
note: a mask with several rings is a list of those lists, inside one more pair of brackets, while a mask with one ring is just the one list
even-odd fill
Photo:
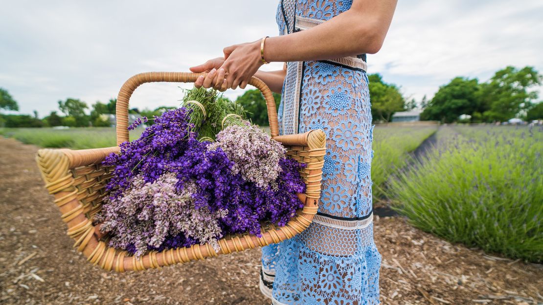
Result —
[[543, 262], [543, 130], [454, 126], [390, 181], [395, 209], [424, 231]]

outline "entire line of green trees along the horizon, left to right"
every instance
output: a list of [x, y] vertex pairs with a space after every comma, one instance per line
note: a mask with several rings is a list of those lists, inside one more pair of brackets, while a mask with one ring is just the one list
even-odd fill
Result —
[[[523, 120], [543, 118], [543, 103], [538, 103], [538, 92], [534, 87], [541, 85], [542, 76], [533, 67], [517, 69], [508, 66], [497, 71], [487, 82], [476, 78], [453, 78], [439, 87], [430, 100], [426, 96], [420, 102], [407, 99], [399, 86], [387, 83], [381, 74], [369, 74], [371, 116], [374, 123], [390, 122], [394, 113], [420, 109], [421, 120], [453, 122], [502, 122], [518, 117]], [[276, 107], [281, 95], [274, 93]], [[268, 125], [268, 113], [262, 94], [257, 89], [247, 90], [236, 101], [249, 112], [254, 124]], [[116, 99], [108, 103], [97, 101], [87, 105], [84, 101], [68, 98], [58, 101], [58, 111], [52, 111], [40, 119], [34, 115], [6, 115], [0, 113], [0, 126], [42, 127], [42, 126], [111, 126], [109, 116], [115, 114]], [[174, 107], [160, 106], [154, 110], [132, 108], [130, 113], [153, 117]], [[7, 90], [0, 88], [0, 110], [18, 111], [19, 107]], [[87, 112], [90, 114], [87, 115]]]

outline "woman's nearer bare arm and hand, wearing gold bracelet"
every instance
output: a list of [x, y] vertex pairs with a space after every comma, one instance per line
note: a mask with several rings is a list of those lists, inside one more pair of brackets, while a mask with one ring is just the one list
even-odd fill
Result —
[[[277, 37], [264, 45], [264, 59], [309, 61], [376, 53], [386, 36], [397, 0], [355, 0], [351, 8], [318, 26]], [[244, 88], [262, 65], [261, 40], [224, 48], [226, 87]], [[218, 82], [218, 80], [216, 80]], [[221, 84], [223, 80], [220, 80]]]

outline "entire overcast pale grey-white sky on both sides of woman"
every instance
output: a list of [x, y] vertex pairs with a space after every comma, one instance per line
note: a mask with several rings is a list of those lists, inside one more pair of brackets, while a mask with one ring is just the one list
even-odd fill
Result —
[[[0, 87], [20, 112], [40, 116], [68, 97], [104, 102], [133, 74], [188, 71], [222, 55], [225, 46], [277, 35], [277, 3], [3, 2]], [[381, 51], [368, 56], [368, 73], [381, 73], [420, 100], [458, 75], [485, 81], [507, 65], [543, 72], [542, 16], [541, 0], [400, 0]], [[146, 84], [130, 106], [175, 106], [181, 96], [178, 84]]]

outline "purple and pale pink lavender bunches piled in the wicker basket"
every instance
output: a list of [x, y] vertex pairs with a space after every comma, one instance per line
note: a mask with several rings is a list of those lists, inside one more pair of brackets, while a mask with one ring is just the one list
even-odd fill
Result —
[[183, 107], [108, 156], [110, 196], [94, 219], [109, 245], [136, 256], [198, 243], [218, 251], [225, 234], [260, 236], [265, 220], [285, 225], [303, 206], [302, 165], [244, 114], [212, 90], [193, 89]]

